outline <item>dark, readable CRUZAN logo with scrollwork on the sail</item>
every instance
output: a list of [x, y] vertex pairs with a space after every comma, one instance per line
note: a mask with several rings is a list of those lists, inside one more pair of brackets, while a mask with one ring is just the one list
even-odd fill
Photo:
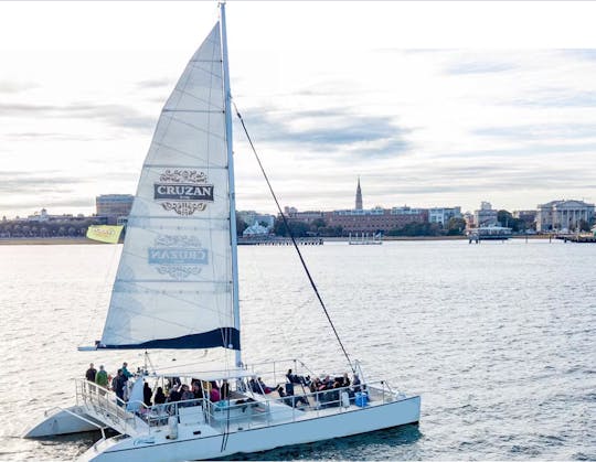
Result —
[[189, 216], [213, 202], [213, 184], [196, 170], [166, 170], [153, 184], [153, 198], [167, 211]]

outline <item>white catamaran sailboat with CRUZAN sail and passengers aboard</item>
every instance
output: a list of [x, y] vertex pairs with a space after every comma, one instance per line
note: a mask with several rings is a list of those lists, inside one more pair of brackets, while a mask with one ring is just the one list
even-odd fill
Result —
[[[82, 460], [183, 461], [418, 422], [421, 397], [385, 380], [366, 380], [343, 345], [351, 379], [319, 376], [297, 359], [243, 363], [235, 223], [225, 6], [220, 4], [216, 24], [161, 111], [103, 335], [83, 350], [225, 348], [234, 352], [234, 364], [175, 376], [146, 370], [128, 380], [134, 385], [126, 400], [77, 380], [76, 404], [47, 411], [26, 438], [99, 430], [102, 439]], [[318, 291], [317, 297], [324, 309]], [[169, 389], [169, 400], [143, 402], [146, 382]], [[119, 434], [107, 438], [106, 428]]]

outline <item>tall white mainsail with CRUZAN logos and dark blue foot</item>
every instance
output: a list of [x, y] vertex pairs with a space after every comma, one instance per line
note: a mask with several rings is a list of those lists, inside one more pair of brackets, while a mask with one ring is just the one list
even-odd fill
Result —
[[98, 347], [240, 350], [223, 72], [217, 23], [161, 111]]

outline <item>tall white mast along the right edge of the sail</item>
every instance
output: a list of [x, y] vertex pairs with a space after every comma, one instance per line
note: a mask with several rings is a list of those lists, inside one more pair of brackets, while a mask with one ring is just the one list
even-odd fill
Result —
[[[236, 238], [236, 191], [234, 187], [234, 152], [232, 147], [232, 111], [230, 93], [230, 69], [227, 65], [227, 34], [225, 29], [225, 3], [220, 3], [220, 28], [222, 37], [224, 100], [225, 100], [225, 138], [227, 144], [227, 182], [230, 186], [230, 241], [232, 244], [232, 303], [234, 309], [234, 327], [240, 332], [240, 299], [238, 299], [238, 253]], [[241, 350], [236, 350], [235, 365], [242, 365]]]

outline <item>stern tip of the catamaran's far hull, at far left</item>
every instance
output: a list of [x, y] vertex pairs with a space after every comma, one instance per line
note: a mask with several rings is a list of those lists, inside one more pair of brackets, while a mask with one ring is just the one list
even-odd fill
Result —
[[[95, 422], [95, 425], [83, 419]], [[67, 409], [56, 408], [53, 413], [46, 413], [44, 419], [33, 426], [23, 438], [47, 438], [58, 434], [81, 433], [97, 430], [99, 427], [104, 427], [104, 425], [88, 416], [81, 406], [73, 406]]]

